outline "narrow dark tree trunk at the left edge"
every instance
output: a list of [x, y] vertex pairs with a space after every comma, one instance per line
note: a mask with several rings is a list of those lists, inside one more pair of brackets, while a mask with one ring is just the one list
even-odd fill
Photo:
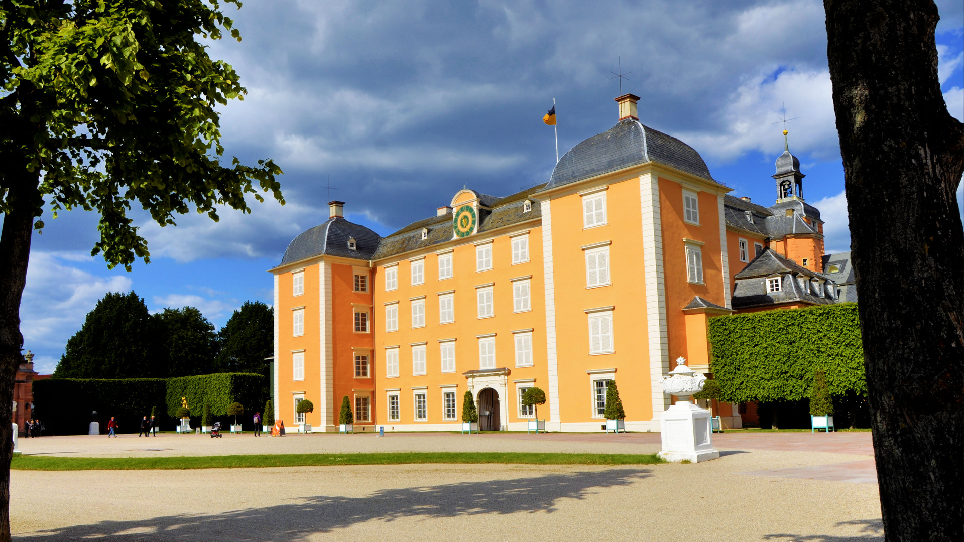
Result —
[[[7, 203], [12, 209], [3, 217], [0, 233], [0, 542], [10, 540], [10, 460], [13, 455], [13, 385], [16, 370], [24, 363], [20, 353], [20, 298], [27, 281], [30, 236], [34, 228], [34, 186], [11, 189]], [[29, 177], [24, 184], [29, 185]], [[26, 193], [24, 193], [26, 192]], [[2, 421], [8, 420], [8, 421]]]

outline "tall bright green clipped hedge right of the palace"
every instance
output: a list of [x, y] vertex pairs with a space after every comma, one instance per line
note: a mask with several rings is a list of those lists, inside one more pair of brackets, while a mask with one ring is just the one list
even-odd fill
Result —
[[856, 303], [710, 319], [710, 368], [726, 401], [808, 398], [814, 370], [830, 393], [867, 393]]

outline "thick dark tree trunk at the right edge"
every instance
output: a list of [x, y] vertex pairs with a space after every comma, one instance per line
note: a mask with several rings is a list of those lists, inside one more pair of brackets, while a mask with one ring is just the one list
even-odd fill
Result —
[[964, 129], [930, 0], [824, 0], [885, 539], [964, 540]]

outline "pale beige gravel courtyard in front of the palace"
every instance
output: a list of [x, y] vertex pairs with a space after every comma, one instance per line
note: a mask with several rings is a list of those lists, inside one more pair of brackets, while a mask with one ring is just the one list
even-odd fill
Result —
[[[650, 453], [658, 434], [162, 435], [21, 440], [56, 456], [352, 451]], [[411, 465], [11, 474], [16, 540], [882, 540], [869, 433], [726, 433], [640, 467]]]

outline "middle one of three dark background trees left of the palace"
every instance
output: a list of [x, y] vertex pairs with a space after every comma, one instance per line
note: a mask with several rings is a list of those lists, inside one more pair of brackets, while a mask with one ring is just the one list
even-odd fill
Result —
[[218, 338], [214, 325], [194, 307], [165, 309], [154, 314], [163, 337], [165, 377], [215, 372]]

